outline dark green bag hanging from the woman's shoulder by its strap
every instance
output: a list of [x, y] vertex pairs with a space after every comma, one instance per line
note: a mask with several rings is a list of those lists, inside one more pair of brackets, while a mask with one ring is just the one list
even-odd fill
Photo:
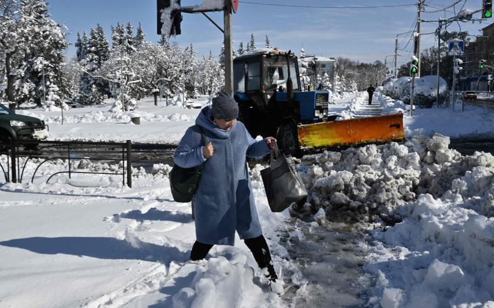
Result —
[[[201, 129], [202, 140], [204, 145], [208, 144], [204, 131]], [[199, 187], [199, 180], [201, 179], [202, 170], [204, 169], [204, 163], [199, 167], [182, 168], [175, 164], [170, 171], [170, 189], [171, 195], [175, 202], [190, 202], [194, 194], [196, 194]]]

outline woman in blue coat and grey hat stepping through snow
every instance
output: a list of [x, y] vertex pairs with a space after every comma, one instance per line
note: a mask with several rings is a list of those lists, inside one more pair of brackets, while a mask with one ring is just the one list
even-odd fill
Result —
[[[218, 92], [204, 107], [196, 125], [185, 132], [173, 161], [183, 168], [205, 162], [195, 195], [196, 242], [191, 260], [204, 259], [213, 245], [235, 244], [235, 232], [251, 249], [269, 279], [277, 279], [266, 239], [257, 217], [246, 157], [259, 158], [273, 148], [274, 138], [256, 141], [236, 121], [238, 104], [228, 93]], [[209, 143], [203, 144], [201, 131]]]

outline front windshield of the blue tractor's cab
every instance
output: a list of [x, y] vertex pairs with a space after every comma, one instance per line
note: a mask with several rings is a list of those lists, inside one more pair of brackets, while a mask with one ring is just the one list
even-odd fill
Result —
[[[297, 70], [295, 60], [290, 59], [290, 78], [293, 82], [293, 90], [298, 90]], [[282, 56], [264, 59], [264, 88], [266, 92], [274, 89], [287, 89], [288, 65], [287, 59]]]

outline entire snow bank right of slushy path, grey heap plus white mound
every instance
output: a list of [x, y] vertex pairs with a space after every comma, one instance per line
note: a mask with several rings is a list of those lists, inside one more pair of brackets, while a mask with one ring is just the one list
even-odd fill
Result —
[[494, 305], [494, 157], [462, 156], [449, 142], [419, 135], [297, 166], [316, 222], [326, 213], [379, 227], [366, 265], [377, 277], [371, 306]]

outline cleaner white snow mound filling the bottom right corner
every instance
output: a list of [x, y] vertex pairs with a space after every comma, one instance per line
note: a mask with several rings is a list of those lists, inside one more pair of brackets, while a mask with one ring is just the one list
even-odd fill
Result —
[[374, 232], [367, 270], [379, 279], [369, 303], [383, 308], [494, 306], [494, 218], [465, 208], [461, 199], [420, 195], [402, 208], [407, 217], [402, 223]]

